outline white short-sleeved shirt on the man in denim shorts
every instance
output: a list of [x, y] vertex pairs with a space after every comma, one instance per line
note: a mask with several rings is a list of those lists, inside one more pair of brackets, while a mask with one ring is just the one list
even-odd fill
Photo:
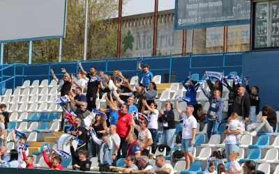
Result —
[[193, 129], [197, 129], [197, 120], [194, 116], [186, 116], [186, 113], [182, 114], [182, 118], [182, 139], [193, 139]]

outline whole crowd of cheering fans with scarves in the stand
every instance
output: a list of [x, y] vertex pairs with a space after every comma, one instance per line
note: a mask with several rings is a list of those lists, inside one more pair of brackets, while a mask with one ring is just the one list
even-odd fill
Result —
[[[78, 65], [80, 72], [77, 72], [77, 77], [68, 74], [66, 69], [62, 68], [63, 79], [58, 79], [51, 70], [53, 78], [59, 82], [59, 93], [61, 96], [68, 95], [70, 99], [70, 103], [63, 111], [60, 131], [82, 140], [76, 149], [70, 142], [73, 170], [90, 171], [91, 161], [88, 159], [90, 146], [92, 157], [98, 157], [100, 171], [173, 174], [172, 165], [166, 164], [163, 155], [154, 157], [156, 166], [149, 164], [149, 158], [153, 158], [152, 154], [158, 148], [158, 134], [162, 134], [161, 143], [163, 145], [173, 148], [176, 132], [172, 102], [166, 102], [164, 110], [159, 110], [154, 102], [157, 88], [153, 82], [153, 74], [149, 71], [149, 65], [141, 68], [141, 62], [139, 63], [138, 68], [143, 74], [143, 80], [140, 83], [137, 79], [135, 88], [130, 85], [128, 77], [119, 70], [114, 70], [112, 75], [104, 74], [102, 71], [97, 74], [96, 67], [91, 67], [90, 72], [86, 72], [80, 63]], [[185, 169], [189, 170], [190, 164], [195, 161], [192, 151], [197, 122], [207, 122], [206, 132], [208, 139], [211, 139], [213, 134], [218, 134], [220, 122], [227, 120], [228, 125], [224, 132], [225, 153], [227, 161], [232, 163], [226, 171], [222, 158], [217, 152], [213, 152], [209, 159], [211, 161], [209, 169], [204, 173], [241, 173], [242, 169], [236, 161], [239, 156], [241, 135], [256, 136], [257, 132], [274, 132], [277, 122], [276, 111], [271, 106], [264, 106], [262, 108], [263, 116], [260, 122], [257, 122], [260, 102], [259, 88], [253, 86], [250, 90], [248, 79], [246, 88], [237, 81], [229, 86], [224, 77], [223, 81], [229, 90], [229, 106], [227, 118], [223, 119], [225, 107], [222, 99], [223, 83], [216, 80], [213, 84], [210, 79], [207, 79], [206, 83], [209, 86], [209, 91], [207, 91], [203, 84], [190, 79], [191, 77], [187, 77], [183, 81], [183, 86], [186, 88], [185, 97], [190, 99], [187, 101], [186, 109], [183, 111], [179, 109], [177, 100], [175, 104], [176, 111], [182, 117], [181, 122], [183, 122], [181, 147], [186, 160]], [[202, 93], [209, 99], [207, 112], [196, 100], [198, 88], [201, 88]], [[246, 90], [248, 95], [245, 95]], [[107, 93], [105, 96], [107, 109], [98, 109], [100, 112], [96, 112], [96, 116], [90, 124], [85, 122], [84, 120], [91, 114], [91, 111], [96, 109], [96, 100], [102, 98], [105, 93]], [[21, 136], [17, 141], [15, 130], [13, 130], [13, 140], [17, 145], [17, 150], [10, 150], [10, 154], [7, 153], [8, 112], [6, 112], [5, 104], [1, 104], [0, 108], [2, 111], [0, 143], [3, 141], [3, 146], [0, 148], [0, 166], [33, 168], [33, 156], [29, 155], [28, 147], [25, 144], [27, 137]], [[64, 122], [65, 119], [68, 121]], [[149, 146], [151, 146], [151, 154]], [[62, 157], [52, 150], [47, 155], [46, 150], [47, 148], [43, 150], [46, 164], [52, 169], [63, 170]], [[120, 158], [125, 158], [124, 164], [126, 165], [116, 167], [116, 161]], [[215, 171], [216, 164], [213, 161], [218, 161], [218, 171]], [[260, 173], [260, 171], [255, 171], [255, 166], [255, 161], [246, 161], [243, 171], [249, 174]]]

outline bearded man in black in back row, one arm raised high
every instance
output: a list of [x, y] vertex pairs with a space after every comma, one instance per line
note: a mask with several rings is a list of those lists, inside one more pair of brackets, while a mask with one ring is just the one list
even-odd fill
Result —
[[82, 70], [82, 73], [85, 74], [86, 77], [89, 79], [87, 84], [86, 99], [88, 103], [88, 110], [92, 111], [92, 108], [96, 109], [96, 98], [99, 97], [100, 83], [98, 81], [98, 75], [96, 74], [97, 68], [92, 66], [90, 68], [91, 74], [89, 74], [84, 71], [80, 63], [77, 64], [80, 66], [80, 70]]

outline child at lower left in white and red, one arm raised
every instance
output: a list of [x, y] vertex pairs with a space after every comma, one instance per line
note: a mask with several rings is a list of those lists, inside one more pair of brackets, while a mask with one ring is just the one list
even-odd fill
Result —
[[[13, 141], [15, 142], [15, 144], [17, 145], [17, 152], [18, 152], [18, 158], [17, 161], [19, 162], [19, 166], [21, 168], [26, 168], [26, 163], [23, 159], [23, 155], [22, 155], [22, 150], [23, 150], [23, 146], [27, 141], [27, 137], [26, 136], [20, 136], [20, 141], [17, 141], [17, 138], [15, 137], [15, 129], [12, 130], [12, 134], [13, 134]], [[29, 150], [28, 148], [26, 148], [25, 150], [25, 155], [29, 155]]]

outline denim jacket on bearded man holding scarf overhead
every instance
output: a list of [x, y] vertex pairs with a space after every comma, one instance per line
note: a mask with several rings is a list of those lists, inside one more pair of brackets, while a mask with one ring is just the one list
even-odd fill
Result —
[[[204, 92], [204, 95], [209, 99], [209, 111], [207, 111], [207, 119], [209, 119], [209, 116], [210, 116], [209, 113], [211, 111], [211, 104], [214, 101], [214, 95], [211, 95], [205, 89], [202, 89], [202, 92]], [[222, 98], [219, 97], [218, 100], [216, 100], [216, 116], [217, 116], [216, 120], [218, 120], [218, 122], [221, 122], [221, 120], [222, 120], [224, 108], [225, 108], [225, 104], [224, 104]]]

